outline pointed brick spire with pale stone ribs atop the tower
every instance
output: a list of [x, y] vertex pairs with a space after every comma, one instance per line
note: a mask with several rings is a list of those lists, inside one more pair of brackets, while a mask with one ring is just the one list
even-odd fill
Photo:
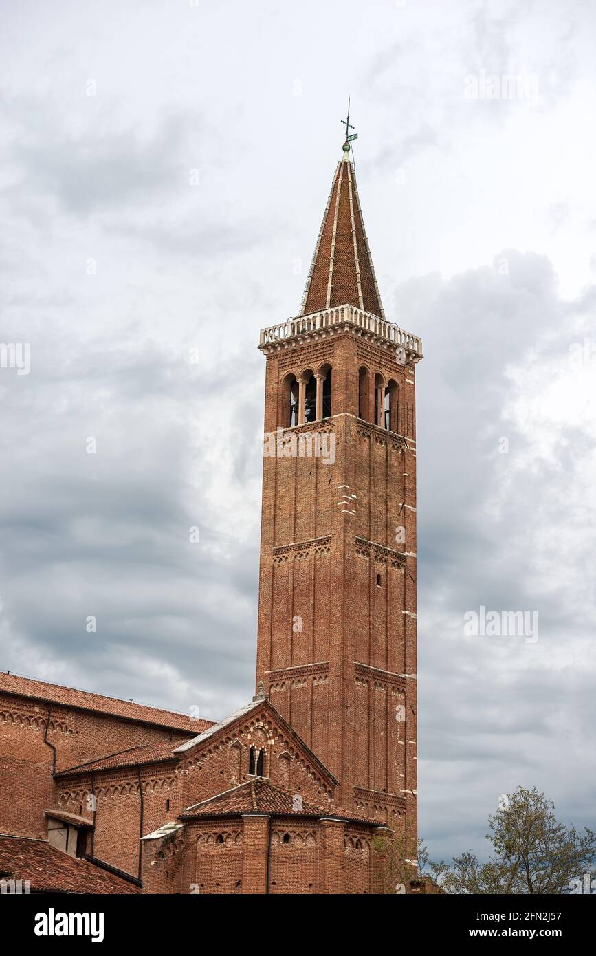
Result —
[[349, 148], [337, 163], [299, 315], [353, 305], [385, 317]]

